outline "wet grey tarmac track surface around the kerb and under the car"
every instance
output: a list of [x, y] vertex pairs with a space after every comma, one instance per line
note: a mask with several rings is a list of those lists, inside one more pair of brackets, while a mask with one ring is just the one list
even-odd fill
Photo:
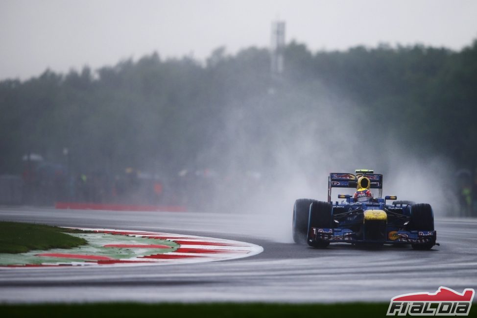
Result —
[[282, 218], [0, 208], [0, 220], [123, 232], [179, 233], [263, 247], [262, 253], [218, 262], [1, 268], [0, 301], [389, 302], [399, 294], [435, 292], [440, 286], [459, 293], [465, 288], [477, 288], [477, 220], [437, 219], [437, 242], [441, 245], [430, 251], [347, 244], [320, 250], [292, 243], [291, 212], [288, 214]]

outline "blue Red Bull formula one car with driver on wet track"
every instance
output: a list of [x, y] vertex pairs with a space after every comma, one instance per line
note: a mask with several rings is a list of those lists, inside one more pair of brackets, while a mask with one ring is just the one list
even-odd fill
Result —
[[[330, 173], [328, 202], [298, 199], [293, 207], [293, 240], [312, 247], [330, 243], [411, 245], [431, 249], [436, 243], [434, 215], [429, 204], [397, 201], [396, 196], [382, 198], [382, 174], [372, 170]], [[356, 188], [352, 195], [331, 200], [333, 188]], [[370, 189], [378, 189], [372, 197]], [[387, 200], [394, 200], [386, 204]]]

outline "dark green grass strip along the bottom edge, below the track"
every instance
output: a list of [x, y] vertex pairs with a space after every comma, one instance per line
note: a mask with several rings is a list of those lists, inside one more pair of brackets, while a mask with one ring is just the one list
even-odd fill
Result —
[[62, 304], [0, 305], [3, 317], [126, 318], [319, 318], [385, 317], [388, 304]]

